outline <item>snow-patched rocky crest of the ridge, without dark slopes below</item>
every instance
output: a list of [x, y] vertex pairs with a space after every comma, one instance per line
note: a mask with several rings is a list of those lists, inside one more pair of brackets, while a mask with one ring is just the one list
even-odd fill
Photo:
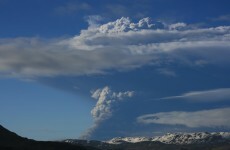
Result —
[[168, 133], [159, 137], [117, 137], [106, 143], [122, 144], [122, 143], [138, 143], [138, 142], [162, 142], [165, 144], [208, 144], [221, 143], [230, 141], [230, 132], [198, 132], [198, 133]]

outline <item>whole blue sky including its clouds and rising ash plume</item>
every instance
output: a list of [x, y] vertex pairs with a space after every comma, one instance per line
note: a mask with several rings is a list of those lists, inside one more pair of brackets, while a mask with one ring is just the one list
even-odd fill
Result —
[[229, 5], [0, 0], [0, 123], [37, 140], [229, 131]]

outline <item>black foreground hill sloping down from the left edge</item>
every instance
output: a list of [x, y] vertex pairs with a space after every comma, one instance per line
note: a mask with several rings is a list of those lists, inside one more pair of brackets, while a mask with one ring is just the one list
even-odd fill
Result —
[[0, 150], [95, 150], [96, 148], [61, 142], [22, 138], [0, 125]]

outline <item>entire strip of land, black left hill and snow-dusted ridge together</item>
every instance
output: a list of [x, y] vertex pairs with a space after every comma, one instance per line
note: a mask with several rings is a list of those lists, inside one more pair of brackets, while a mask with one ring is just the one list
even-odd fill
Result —
[[[166, 134], [161, 137], [124, 137], [109, 141], [74, 140], [35, 141], [23, 138], [0, 125], [1, 150], [229, 150], [230, 132]], [[188, 144], [175, 144], [178, 139], [203, 140]], [[177, 140], [176, 140], [177, 139]], [[115, 143], [115, 142], [120, 143]], [[161, 141], [161, 142], [160, 142]], [[163, 141], [163, 142], [162, 142]], [[165, 142], [165, 141], [174, 141]], [[186, 140], [184, 140], [186, 141]], [[205, 142], [204, 142], [205, 141]]]

